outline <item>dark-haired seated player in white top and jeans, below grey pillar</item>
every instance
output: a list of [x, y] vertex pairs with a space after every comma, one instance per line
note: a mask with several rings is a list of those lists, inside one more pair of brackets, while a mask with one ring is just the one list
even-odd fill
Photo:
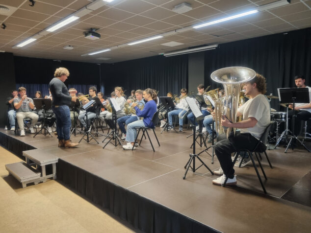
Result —
[[168, 113], [169, 130], [173, 129], [173, 116], [179, 116], [179, 132], [182, 132], [183, 116], [188, 112], [189, 106], [185, 96], [187, 95], [187, 89], [181, 89], [181, 96], [179, 103], [176, 104], [173, 111]]

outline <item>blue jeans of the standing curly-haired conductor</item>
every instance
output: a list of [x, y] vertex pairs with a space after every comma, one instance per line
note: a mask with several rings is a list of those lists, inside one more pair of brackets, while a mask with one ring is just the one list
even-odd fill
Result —
[[52, 110], [56, 116], [56, 132], [59, 140], [70, 140], [70, 110], [66, 105], [55, 107]]

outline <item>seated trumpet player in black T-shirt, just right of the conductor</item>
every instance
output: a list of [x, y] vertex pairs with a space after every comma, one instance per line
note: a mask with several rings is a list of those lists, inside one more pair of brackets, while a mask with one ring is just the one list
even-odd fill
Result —
[[[91, 100], [93, 100], [95, 97], [97, 97], [96, 92], [97, 92], [96, 87], [90, 87], [89, 88], [90, 97], [89, 98], [83, 97], [82, 98], [82, 104], [84, 105], [84, 104], [90, 102]], [[82, 124], [82, 126], [84, 127], [84, 131], [88, 131], [90, 129], [90, 127], [89, 127], [90, 121], [91, 121], [91, 119], [96, 117], [96, 111], [97, 111], [97, 105], [96, 104], [89, 107], [87, 109], [87, 111], [80, 111], [78, 119], [79, 119], [80, 123]], [[86, 123], [86, 114], [87, 114], [88, 123]]]

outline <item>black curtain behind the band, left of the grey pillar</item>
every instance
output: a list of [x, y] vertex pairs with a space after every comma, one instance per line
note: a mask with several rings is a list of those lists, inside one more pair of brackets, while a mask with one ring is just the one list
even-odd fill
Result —
[[188, 55], [155, 56], [120, 62], [107, 67], [102, 64], [102, 79], [107, 93], [115, 86], [130, 90], [153, 88], [159, 96], [167, 92], [180, 93], [188, 85]]

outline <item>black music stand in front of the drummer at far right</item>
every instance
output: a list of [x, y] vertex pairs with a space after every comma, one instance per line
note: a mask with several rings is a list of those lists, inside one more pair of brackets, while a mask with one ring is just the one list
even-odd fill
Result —
[[[295, 135], [295, 103], [310, 103], [310, 97], [309, 97], [309, 89], [308, 88], [279, 88], [278, 89], [279, 93], [279, 99], [281, 103], [293, 103], [293, 116], [291, 119], [291, 124], [292, 124], [292, 132], [290, 136], [290, 140], [288, 142], [288, 145], [285, 149], [285, 152], [287, 152], [288, 147], [291, 145], [292, 150], [294, 149], [292, 145], [292, 140], [295, 139], [300, 142], [300, 144], [305, 147], [305, 149], [308, 152], [311, 152], [306, 145], [297, 138]], [[286, 116], [288, 117], [288, 116]], [[289, 131], [290, 132], [290, 131]]]

